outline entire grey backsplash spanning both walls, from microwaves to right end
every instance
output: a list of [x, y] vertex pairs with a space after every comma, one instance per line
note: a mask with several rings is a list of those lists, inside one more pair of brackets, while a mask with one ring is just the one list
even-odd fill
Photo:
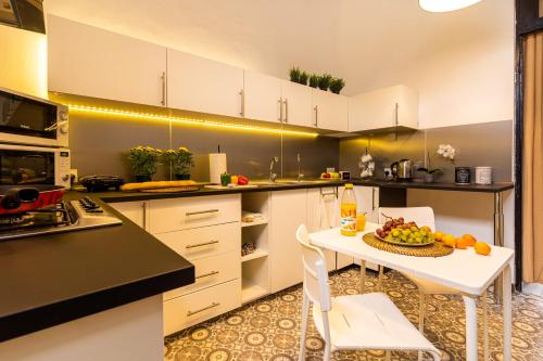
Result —
[[[51, 98], [62, 103], [222, 119], [206, 114], [92, 98], [66, 94], [51, 94]], [[224, 119], [232, 120], [232, 118]], [[242, 119], [235, 120], [242, 121]], [[72, 167], [77, 168], [80, 176], [111, 173], [119, 175], [127, 180], [131, 180], [131, 171], [126, 153], [135, 145], [160, 149], [187, 146], [194, 153], [195, 167], [192, 170], [192, 179], [207, 181], [207, 154], [215, 153], [218, 144], [220, 151], [227, 154], [228, 171], [243, 173], [253, 179], [268, 177], [269, 160], [273, 156], [279, 156], [281, 159], [275, 169], [278, 175], [282, 172], [285, 178], [296, 177], [298, 153], [301, 155], [301, 171], [305, 178], [318, 177], [326, 167], [350, 170], [353, 177], [358, 177], [358, 159], [368, 147], [376, 160], [376, 178], [380, 179], [383, 168], [401, 158], [424, 164], [425, 153], [430, 151], [433, 154], [440, 143], [450, 143], [456, 147], [457, 166], [490, 166], [494, 169], [494, 181], [512, 180], [513, 121], [510, 120], [403, 131], [397, 134], [375, 133], [342, 140], [207, 128], [76, 112], [71, 114], [70, 126]], [[444, 169], [441, 180], [454, 180], [453, 164], [434, 158], [433, 166]], [[161, 165], [154, 179], [169, 179], [168, 167]]]

